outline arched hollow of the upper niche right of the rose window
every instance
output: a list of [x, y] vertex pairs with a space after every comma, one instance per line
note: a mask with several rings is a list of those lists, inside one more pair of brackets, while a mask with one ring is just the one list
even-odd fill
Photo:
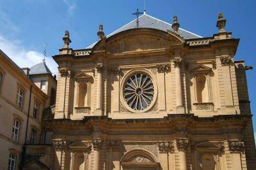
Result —
[[209, 102], [207, 80], [205, 75], [196, 76], [196, 99], [198, 103]]

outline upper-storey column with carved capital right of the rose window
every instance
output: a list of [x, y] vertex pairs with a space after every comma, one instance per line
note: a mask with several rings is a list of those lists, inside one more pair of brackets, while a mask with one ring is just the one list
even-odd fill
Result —
[[175, 85], [176, 85], [176, 112], [184, 113], [182, 104], [182, 84], [180, 75], [180, 66], [182, 66], [182, 58], [175, 58], [173, 60], [175, 66]]

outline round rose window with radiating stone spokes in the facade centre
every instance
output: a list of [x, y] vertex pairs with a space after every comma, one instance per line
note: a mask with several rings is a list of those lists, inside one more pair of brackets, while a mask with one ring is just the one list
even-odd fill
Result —
[[135, 111], [146, 109], [154, 98], [154, 84], [146, 73], [134, 73], [124, 82], [124, 100]]

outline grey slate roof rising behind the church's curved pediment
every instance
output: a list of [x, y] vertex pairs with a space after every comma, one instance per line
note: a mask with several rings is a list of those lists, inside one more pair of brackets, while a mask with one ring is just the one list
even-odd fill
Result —
[[[139, 27], [160, 29], [162, 31], [167, 31], [167, 29], [172, 30], [172, 24], [169, 24], [168, 22], [164, 22], [163, 20], [156, 19], [155, 17], [147, 15], [146, 13], [141, 15], [138, 19], [139, 19]], [[134, 19], [131, 22], [129, 22], [128, 24], [120, 27], [119, 29], [117, 29], [113, 33], [110, 33], [109, 35], [107, 35], [107, 38], [109, 36], [115, 35], [116, 33], [120, 33], [122, 31], [125, 31], [127, 29], [136, 28], [137, 27], [136, 20], [137, 19]], [[185, 29], [182, 29], [182, 28], [179, 28], [178, 32], [179, 32], [179, 35], [184, 38], [184, 40], [193, 39], [193, 38], [202, 38], [202, 36], [196, 35], [195, 33], [191, 33], [189, 31], [186, 31]], [[96, 43], [97, 42], [93, 43], [92, 45], [90, 45], [86, 49], [92, 49], [93, 46]]]

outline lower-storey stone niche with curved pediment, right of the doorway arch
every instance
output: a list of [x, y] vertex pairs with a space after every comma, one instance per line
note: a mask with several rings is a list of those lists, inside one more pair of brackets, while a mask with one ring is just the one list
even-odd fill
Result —
[[221, 144], [202, 142], [195, 146], [195, 169], [220, 170], [221, 169]]

